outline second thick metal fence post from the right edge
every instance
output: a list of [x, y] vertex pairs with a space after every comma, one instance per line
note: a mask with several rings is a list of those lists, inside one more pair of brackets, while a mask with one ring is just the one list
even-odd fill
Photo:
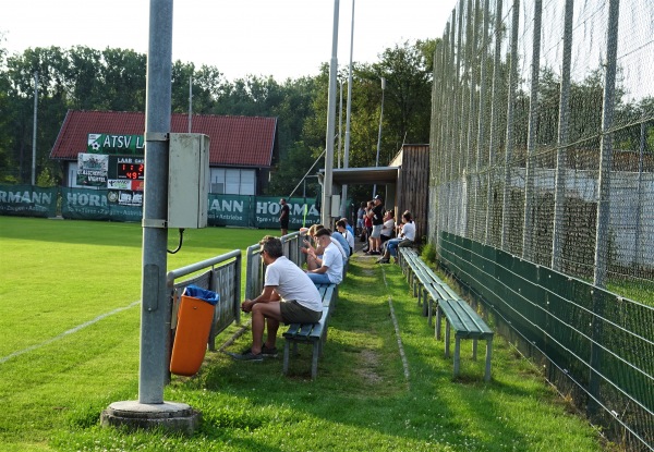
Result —
[[552, 232], [552, 269], [561, 270], [564, 248], [564, 208], [566, 205], [566, 154], [570, 120], [570, 63], [572, 61], [572, 20], [574, 0], [566, 0], [564, 19], [564, 61], [561, 65], [561, 93], [559, 98], [558, 144], [554, 182], [554, 229]]

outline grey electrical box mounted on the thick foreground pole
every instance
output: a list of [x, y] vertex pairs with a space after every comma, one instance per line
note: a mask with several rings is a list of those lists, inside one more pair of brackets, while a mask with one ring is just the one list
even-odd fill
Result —
[[168, 148], [168, 228], [206, 228], [209, 137], [171, 133]]

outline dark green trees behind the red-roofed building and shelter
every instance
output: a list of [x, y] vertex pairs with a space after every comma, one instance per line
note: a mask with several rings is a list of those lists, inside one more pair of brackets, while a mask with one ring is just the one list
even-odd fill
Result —
[[[434, 46], [432, 40], [407, 41], [385, 49], [378, 62], [353, 65], [350, 167], [375, 163], [380, 77], [387, 83], [379, 164], [387, 164], [403, 143], [428, 143]], [[29, 181], [35, 73], [38, 182], [59, 184], [61, 168], [50, 161], [49, 151], [66, 111], [144, 111], [146, 63], [145, 54], [125, 49], [29, 48], [9, 56], [0, 46], [0, 182]], [[172, 111], [189, 111], [191, 81], [193, 113], [277, 118], [280, 156], [269, 192], [289, 194], [326, 147], [328, 74], [324, 64], [315, 76], [284, 82], [271, 76], [227, 81], [218, 68], [197, 69], [178, 60], [172, 65]], [[340, 68], [339, 80], [344, 91], [348, 68]], [[346, 100], [337, 113], [342, 115], [341, 133]], [[316, 168], [324, 166], [318, 163]], [[314, 196], [315, 191], [307, 195]]]

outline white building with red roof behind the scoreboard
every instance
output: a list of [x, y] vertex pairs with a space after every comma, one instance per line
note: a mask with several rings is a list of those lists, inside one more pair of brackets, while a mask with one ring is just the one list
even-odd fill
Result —
[[[191, 125], [191, 130], [189, 130]], [[145, 113], [69, 110], [50, 158], [61, 161], [64, 185], [77, 185], [77, 158], [87, 152], [88, 135], [143, 135]], [[209, 136], [211, 193], [257, 195], [268, 183], [278, 156], [277, 119], [173, 113], [170, 132]]]

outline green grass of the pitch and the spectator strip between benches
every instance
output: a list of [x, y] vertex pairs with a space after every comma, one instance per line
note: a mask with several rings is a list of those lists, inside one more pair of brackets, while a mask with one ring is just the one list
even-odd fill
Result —
[[[187, 230], [168, 267], [245, 248], [268, 232], [277, 231]], [[100, 428], [110, 403], [137, 398], [141, 227], [0, 217], [0, 246], [2, 451], [618, 450], [501, 338], [492, 382], [465, 343], [452, 380], [451, 358], [399, 268], [359, 255], [315, 381], [308, 347], [290, 377], [280, 358], [239, 363], [211, 352], [196, 377], [166, 388], [166, 400], [203, 413], [193, 437]], [[247, 330], [229, 350], [249, 342]]]

